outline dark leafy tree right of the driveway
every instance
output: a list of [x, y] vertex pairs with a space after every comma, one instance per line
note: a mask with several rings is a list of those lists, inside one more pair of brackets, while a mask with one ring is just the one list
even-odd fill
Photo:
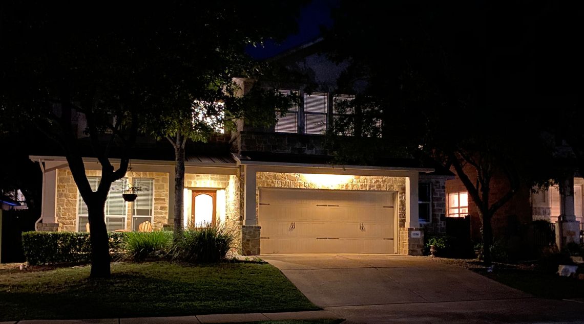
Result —
[[[432, 157], [452, 168], [478, 207], [488, 265], [493, 214], [522, 186], [550, 178], [541, 164], [532, 168], [550, 150], [533, 111], [521, 110], [531, 85], [520, 82], [531, 75], [529, 60], [517, 62], [530, 44], [524, 30], [530, 25], [516, 22], [523, 22], [523, 9], [521, 3], [503, 10], [468, 1], [373, 8], [346, 1], [326, 37], [331, 57], [347, 63], [339, 89], [358, 90], [350, 105], [359, 114], [336, 123], [332, 142], [345, 141], [338, 134], [347, 125], [368, 125], [373, 131], [357, 132], [351, 141], [361, 152], [369, 147], [370, 159]], [[359, 154], [343, 152], [347, 147], [339, 152]], [[506, 179], [502, 195], [493, 195], [493, 177]]]

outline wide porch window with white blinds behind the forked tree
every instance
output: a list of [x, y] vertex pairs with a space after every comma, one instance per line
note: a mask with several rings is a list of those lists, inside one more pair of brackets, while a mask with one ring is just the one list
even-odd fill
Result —
[[[100, 177], [88, 177], [89, 186], [91, 186], [92, 191], [96, 191], [99, 186]], [[124, 201], [122, 194], [126, 190], [128, 184], [128, 179], [123, 178], [116, 180], [112, 183], [110, 191], [107, 193], [106, 205], [105, 205], [105, 221], [107, 231], [124, 230], [126, 228], [126, 214], [128, 211], [128, 204]], [[78, 204], [77, 204], [77, 230], [80, 232], [85, 232], [86, 224], [89, 222], [89, 210], [83, 198], [77, 192]]]

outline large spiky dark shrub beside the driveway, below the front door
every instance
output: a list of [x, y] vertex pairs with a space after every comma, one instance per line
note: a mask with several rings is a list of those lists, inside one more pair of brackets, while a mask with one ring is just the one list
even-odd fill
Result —
[[218, 262], [235, 241], [235, 231], [224, 223], [190, 226], [172, 247], [172, 258], [186, 262]]

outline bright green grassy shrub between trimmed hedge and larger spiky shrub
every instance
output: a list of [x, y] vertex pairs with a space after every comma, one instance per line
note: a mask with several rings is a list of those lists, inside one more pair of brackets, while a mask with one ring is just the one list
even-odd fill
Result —
[[146, 258], [164, 256], [172, 242], [172, 232], [130, 232], [124, 240], [124, 258], [143, 261]]

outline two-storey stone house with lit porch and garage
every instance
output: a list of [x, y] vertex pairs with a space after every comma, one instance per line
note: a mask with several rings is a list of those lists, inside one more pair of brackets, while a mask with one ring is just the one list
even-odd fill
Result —
[[[277, 59], [308, 72], [318, 86], [308, 93], [304, 84], [280, 84], [281, 91], [296, 91], [302, 100], [284, 116], [274, 112], [272, 127], [239, 123], [237, 131], [217, 136], [223, 149], [187, 156], [185, 226], [224, 221], [240, 233], [244, 255], [420, 255], [424, 231], [444, 233], [445, 188], [451, 174], [414, 159], [332, 164], [322, 133], [334, 122], [335, 103], [350, 97], [335, 93], [342, 66], [319, 55], [317, 43]], [[249, 90], [248, 80], [237, 81], [243, 93]], [[114, 182], [105, 207], [108, 230], [137, 230], [144, 221], [156, 230], [172, 227], [174, 161], [159, 154], [162, 150], [145, 149], [142, 157], [131, 160], [126, 177]], [[37, 154], [30, 159], [43, 168], [42, 221], [37, 229], [85, 231], [87, 208], [65, 157]], [[100, 165], [89, 153], [84, 162], [95, 189]], [[121, 195], [128, 185], [142, 188], [131, 203]]]

